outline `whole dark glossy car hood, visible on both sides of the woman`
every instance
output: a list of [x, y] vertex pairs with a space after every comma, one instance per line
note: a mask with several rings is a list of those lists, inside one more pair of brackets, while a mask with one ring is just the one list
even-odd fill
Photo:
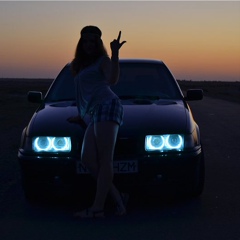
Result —
[[[129, 104], [124, 107], [123, 125], [119, 135], [190, 133], [193, 131], [191, 112], [183, 101], [155, 101], [150, 104]], [[73, 102], [46, 104], [33, 115], [28, 135], [78, 136], [84, 129], [67, 119], [77, 115]], [[89, 119], [85, 119], [89, 122]]]

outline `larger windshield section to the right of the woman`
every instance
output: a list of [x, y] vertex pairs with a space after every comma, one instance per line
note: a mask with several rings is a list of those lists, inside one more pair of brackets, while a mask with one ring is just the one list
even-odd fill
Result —
[[119, 82], [112, 87], [120, 98], [180, 98], [178, 86], [164, 64], [123, 62], [120, 66]]

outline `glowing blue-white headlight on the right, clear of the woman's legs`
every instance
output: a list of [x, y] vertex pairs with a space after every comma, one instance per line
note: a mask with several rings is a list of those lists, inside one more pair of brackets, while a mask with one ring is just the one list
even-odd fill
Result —
[[146, 151], [182, 151], [183, 147], [184, 138], [179, 134], [147, 135], [145, 137]]

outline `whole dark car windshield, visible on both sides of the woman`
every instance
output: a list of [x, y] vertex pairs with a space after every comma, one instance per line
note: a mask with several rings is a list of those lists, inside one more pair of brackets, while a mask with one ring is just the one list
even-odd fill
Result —
[[[168, 68], [161, 63], [121, 62], [120, 77], [112, 90], [125, 99], [180, 99], [180, 89]], [[75, 100], [74, 78], [69, 65], [60, 72], [46, 102]]]

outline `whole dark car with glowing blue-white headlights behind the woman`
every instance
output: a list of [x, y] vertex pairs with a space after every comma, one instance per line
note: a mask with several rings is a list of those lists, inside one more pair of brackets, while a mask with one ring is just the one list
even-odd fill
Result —
[[[114, 182], [121, 191], [177, 192], [198, 196], [204, 187], [204, 153], [199, 126], [187, 101], [201, 100], [201, 89], [183, 95], [167, 66], [158, 60], [120, 60], [120, 79], [112, 90], [124, 107], [114, 155]], [[77, 115], [74, 79], [67, 64], [22, 132], [18, 159], [28, 199], [46, 189], [77, 189], [84, 195], [93, 180], [81, 164], [84, 124]], [[90, 119], [86, 117], [85, 123]]]

